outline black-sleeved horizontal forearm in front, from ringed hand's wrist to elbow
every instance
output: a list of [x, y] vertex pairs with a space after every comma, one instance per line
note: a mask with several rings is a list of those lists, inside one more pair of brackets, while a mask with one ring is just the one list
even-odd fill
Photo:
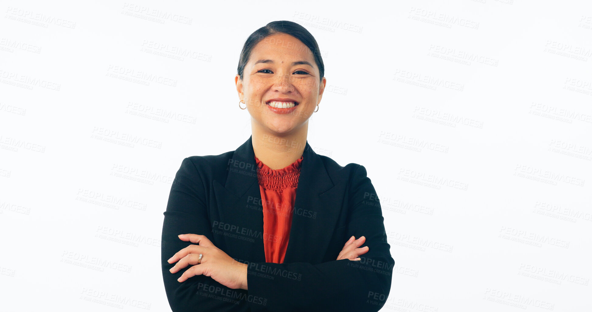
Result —
[[249, 303], [250, 307], [252, 311], [378, 311], [381, 305], [366, 302], [373, 297], [369, 294], [388, 296], [394, 260], [377, 252], [362, 260], [249, 263], [249, 295], [266, 303]]

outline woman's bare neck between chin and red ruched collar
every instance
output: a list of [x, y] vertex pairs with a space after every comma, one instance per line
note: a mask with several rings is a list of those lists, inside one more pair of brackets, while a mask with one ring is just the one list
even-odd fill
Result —
[[290, 133], [271, 133], [251, 123], [253, 152], [270, 169], [282, 169], [291, 165], [304, 153], [308, 123]]

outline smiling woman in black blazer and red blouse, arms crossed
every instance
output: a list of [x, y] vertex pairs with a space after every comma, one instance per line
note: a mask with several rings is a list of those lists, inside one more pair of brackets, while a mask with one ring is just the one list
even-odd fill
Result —
[[234, 151], [185, 158], [170, 189], [170, 307], [378, 311], [394, 260], [374, 186], [363, 166], [342, 167], [307, 141], [326, 85], [316, 40], [270, 22], [247, 38], [237, 72], [252, 135]]

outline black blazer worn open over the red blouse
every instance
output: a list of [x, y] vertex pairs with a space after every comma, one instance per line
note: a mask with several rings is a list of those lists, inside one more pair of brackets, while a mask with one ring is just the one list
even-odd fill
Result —
[[[391, 289], [390, 245], [366, 169], [345, 167], [306, 143], [284, 263], [266, 263], [263, 212], [252, 137], [221, 155], [191, 156], [176, 173], [162, 228], [162, 274], [174, 312], [378, 311]], [[235, 260], [248, 263], [249, 290], [210, 276], [176, 281], [167, 260], [202, 234]], [[351, 236], [366, 237], [362, 260], [336, 260]]]

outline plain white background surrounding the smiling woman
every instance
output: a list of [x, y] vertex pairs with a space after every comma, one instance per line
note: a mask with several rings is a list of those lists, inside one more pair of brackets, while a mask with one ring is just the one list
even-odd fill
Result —
[[275, 20], [326, 66], [309, 144], [380, 197], [381, 311], [591, 310], [590, 2], [59, 2], [0, 7], [2, 310], [170, 310], [172, 179], [250, 136], [234, 75]]

